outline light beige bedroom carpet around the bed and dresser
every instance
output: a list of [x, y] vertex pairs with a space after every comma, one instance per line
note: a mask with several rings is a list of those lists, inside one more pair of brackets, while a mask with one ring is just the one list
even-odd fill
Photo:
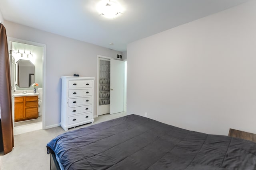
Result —
[[[126, 113], [106, 114], [96, 117], [94, 123], [100, 123], [110, 119], [125, 116]], [[93, 125], [88, 123], [76, 128]], [[46, 130], [37, 130], [32, 132], [14, 135], [14, 149], [12, 152], [0, 156], [1, 170], [50, 170], [50, 155], [47, 154], [46, 144], [54, 137], [65, 133], [62, 127], [54, 127]]]

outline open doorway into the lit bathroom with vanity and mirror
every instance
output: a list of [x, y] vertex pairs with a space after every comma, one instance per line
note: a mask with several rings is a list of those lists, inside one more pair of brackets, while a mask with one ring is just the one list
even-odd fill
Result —
[[[11, 86], [12, 86], [12, 117], [14, 125], [14, 135], [25, 133], [28, 131], [34, 131], [44, 129], [45, 127], [45, 57], [46, 57], [46, 45], [34, 43], [30, 41], [24, 41], [20, 39], [8, 38], [9, 50], [10, 50], [10, 72], [11, 72]], [[28, 85], [21, 84], [25, 78], [21, 74], [22, 64], [29, 63], [34, 67], [34, 72], [29, 76]], [[27, 68], [27, 67], [26, 67]], [[26, 81], [25, 81], [26, 82]], [[17, 110], [21, 112], [21, 109], [17, 109], [18, 105], [15, 105], [14, 100], [17, 97], [25, 98], [28, 94], [34, 93], [33, 84], [37, 83], [35, 106], [28, 108], [29, 111], [37, 109], [37, 117], [25, 117], [17, 121]], [[20, 94], [25, 93], [24, 97]], [[32, 97], [32, 96], [29, 96]], [[25, 98], [26, 99], [26, 98]], [[37, 101], [36, 101], [37, 99]], [[30, 102], [32, 103], [32, 102]], [[36, 107], [36, 105], [38, 107]], [[24, 104], [25, 107], [25, 104]], [[14, 109], [15, 108], [15, 109]], [[26, 108], [27, 109], [27, 108]], [[36, 111], [34, 111], [36, 113]], [[24, 113], [25, 114], [25, 113]], [[33, 113], [34, 114], [34, 113]], [[29, 115], [30, 116], [30, 115]]]

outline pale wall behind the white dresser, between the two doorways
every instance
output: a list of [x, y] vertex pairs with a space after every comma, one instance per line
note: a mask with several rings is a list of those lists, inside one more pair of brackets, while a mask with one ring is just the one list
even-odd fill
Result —
[[[115, 57], [119, 51], [77, 41], [24, 25], [5, 21], [8, 37], [46, 44], [46, 128], [61, 119], [61, 76], [97, 76], [97, 55]], [[96, 95], [97, 81], [94, 84]], [[94, 115], [96, 115], [96, 96]]]

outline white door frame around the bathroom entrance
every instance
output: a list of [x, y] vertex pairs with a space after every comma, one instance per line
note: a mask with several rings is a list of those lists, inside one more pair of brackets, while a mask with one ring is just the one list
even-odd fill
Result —
[[[43, 91], [43, 106], [42, 106], [42, 129], [46, 128], [46, 44], [41, 44], [41, 43], [36, 43], [33, 41], [26, 41], [23, 39], [17, 39], [13, 37], [7, 37], [8, 41], [8, 49], [10, 45], [10, 41], [16, 42], [16, 43], [23, 43], [23, 44], [28, 44], [28, 45], [34, 45], [38, 47], [43, 47], [43, 85], [42, 85], [42, 91]], [[9, 49], [10, 50], [10, 49]], [[14, 107], [14, 106], [12, 106]], [[14, 113], [12, 113], [14, 116]]]

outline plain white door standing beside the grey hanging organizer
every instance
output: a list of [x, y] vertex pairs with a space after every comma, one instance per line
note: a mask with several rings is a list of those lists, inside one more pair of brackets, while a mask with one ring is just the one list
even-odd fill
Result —
[[110, 114], [124, 111], [124, 61], [110, 59]]

